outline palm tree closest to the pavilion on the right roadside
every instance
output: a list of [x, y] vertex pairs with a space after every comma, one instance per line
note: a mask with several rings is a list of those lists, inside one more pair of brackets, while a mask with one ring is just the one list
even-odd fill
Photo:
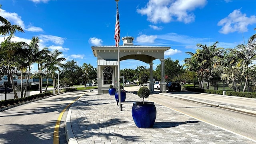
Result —
[[218, 41], [215, 42], [212, 46], [196, 44], [196, 46], [201, 49], [197, 49], [197, 52], [194, 56], [202, 60], [202, 70], [206, 70], [208, 73], [207, 89], [209, 89], [213, 68], [215, 68], [217, 66], [216, 64], [218, 64], [218, 61], [223, 58], [224, 48], [217, 48], [217, 44]]

